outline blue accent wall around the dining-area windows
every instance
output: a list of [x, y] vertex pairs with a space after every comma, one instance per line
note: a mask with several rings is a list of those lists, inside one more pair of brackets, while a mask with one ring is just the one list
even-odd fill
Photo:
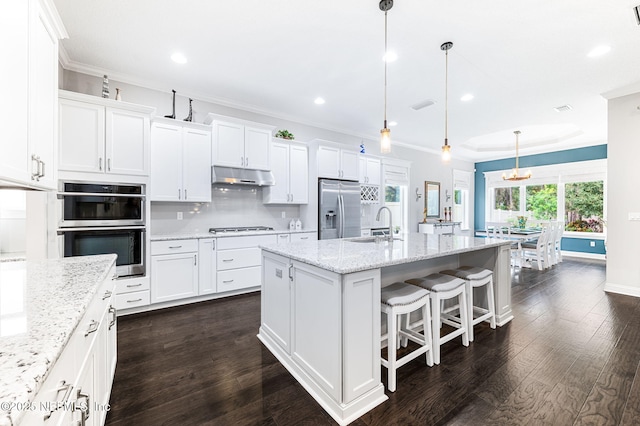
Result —
[[[607, 145], [595, 145], [586, 148], [568, 149], [565, 151], [549, 152], [545, 154], [527, 155], [519, 158], [520, 169], [528, 167], [548, 166], [551, 164], [575, 163], [578, 161], [601, 160], [607, 158]], [[511, 170], [515, 164], [515, 157], [501, 160], [483, 161], [475, 164], [475, 199], [474, 199], [474, 227], [484, 229], [485, 212], [485, 182], [484, 173], [496, 170]], [[590, 247], [589, 241], [582, 238], [563, 238], [562, 249], [586, 253], [604, 254], [604, 242], [595, 240], [596, 247]]]

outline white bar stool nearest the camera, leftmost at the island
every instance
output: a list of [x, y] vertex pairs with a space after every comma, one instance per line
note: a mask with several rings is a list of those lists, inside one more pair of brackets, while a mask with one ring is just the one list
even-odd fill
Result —
[[[387, 314], [387, 358], [381, 357], [382, 365], [387, 367], [387, 388], [389, 392], [396, 391], [396, 370], [418, 356], [427, 354], [427, 365], [433, 366], [433, 347], [431, 339], [431, 313], [429, 310], [429, 292], [425, 289], [406, 284], [393, 283], [383, 287], [380, 291], [381, 310]], [[410, 330], [403, 326], [402, 315], [407, 316], [404, 321], [409, 324], [408, 316], [411, 312], [422, 310], [424, 321], [423, 334]], [[400, 317], [400, 318], [399, 318]], [[407, 355], [397, 358], [396, 351], [399, 347], [398, 338], [409, 339], [420, 345]], [[384, 336], [383, 336], [384, 340]], [[406, 344], [405, 344], [406, 345]]]

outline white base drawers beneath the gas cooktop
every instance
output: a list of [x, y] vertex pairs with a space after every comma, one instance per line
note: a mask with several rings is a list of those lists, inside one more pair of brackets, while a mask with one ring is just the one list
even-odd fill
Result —
[[260, 287], [261, 244], [276, 244], [276, 235], [218, 238], [218, 292]]

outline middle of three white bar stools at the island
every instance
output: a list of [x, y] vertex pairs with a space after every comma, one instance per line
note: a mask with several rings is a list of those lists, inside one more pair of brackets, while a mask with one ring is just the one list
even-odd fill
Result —
[[[440, 364], [440, 346], [458, 336], [462, 336], [462, 344], [469, 346], [468, 319], [467, 319], [467, 291], [464, 280], [451, 275], [431, 274], [423, 278], [412, 278], [405, 282], [422, 287], [429, 290], [431, 299], [431, 311], [433, 318], [431, 320], [433, 335], [433, 362]], [[451, 321], [447, 318], [449, 315], [443, 312], [441, 303], [444, 300], [458, 298], [460, 309], [460, 318], [457, 321]], [[442, 324], [448, 324], [456, 330], [440, 336], [440, 328]]]

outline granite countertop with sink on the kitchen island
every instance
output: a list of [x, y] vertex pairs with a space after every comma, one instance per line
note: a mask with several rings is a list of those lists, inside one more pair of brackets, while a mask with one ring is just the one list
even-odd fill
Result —
[[[339, 274], [467, 253], [511, 244], [497, 238], [473, 238], [422, 233], [396, 234], [391, 242], [371, 241], [373, 237], [261, 245], [268, 252], [289, 257]], [[361, 242], [358, 242], [361, 241]]]

